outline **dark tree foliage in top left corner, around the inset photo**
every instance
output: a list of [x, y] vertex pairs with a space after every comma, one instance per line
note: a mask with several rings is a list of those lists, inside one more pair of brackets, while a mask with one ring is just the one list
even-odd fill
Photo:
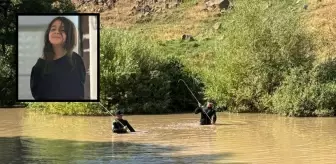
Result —
[[17, 13], [75, 12], [71, 0], [7, 0], [0, 2], [0, 106], [16, 102]]

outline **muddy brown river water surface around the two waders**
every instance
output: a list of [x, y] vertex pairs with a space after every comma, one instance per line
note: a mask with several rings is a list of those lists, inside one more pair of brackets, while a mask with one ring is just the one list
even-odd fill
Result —
[[112, 117], [0, 109], [0, 163], [335, 163], [336, 118], [219, 113], [125, 117], [137, 130], [112, 134]]

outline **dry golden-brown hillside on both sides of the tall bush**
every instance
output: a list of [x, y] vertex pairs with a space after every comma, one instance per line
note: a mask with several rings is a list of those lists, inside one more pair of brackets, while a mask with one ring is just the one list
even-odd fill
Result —
[[[81, 12], [100, 12], [103, 27], [140, 29], [159, 40], [198, 35], [204, 23], [215, 24], [220, 16], [218, 9], [207, 7], [209, 0], [91, 0], [82, 5], [81, 0], [73, 1]], [[319, 54], [336, 56], [336, 0], [308, 1], [304, 21], [317, 34]]]

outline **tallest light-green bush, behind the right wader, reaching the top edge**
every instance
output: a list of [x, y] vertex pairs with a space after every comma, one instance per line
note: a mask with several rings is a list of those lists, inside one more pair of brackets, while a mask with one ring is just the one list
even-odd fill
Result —
[[222, 19], [213, 64], [202, 70], [206, 96], [234, 112], [263, 112], [284, 72], [311, 67], [311, 38], [300, 24], [300, 4], [237, 1]]

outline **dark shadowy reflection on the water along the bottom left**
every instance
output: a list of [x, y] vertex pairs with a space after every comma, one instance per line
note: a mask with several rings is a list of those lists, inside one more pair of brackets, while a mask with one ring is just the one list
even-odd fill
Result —
[[[169, 156], [182, 148], [130, 142], [0, 137], [0, 160], [8, 163], [213, 163], [230, 154]], [[115, 151], [115, 148], [123, 150]], [[163, 154], [166, 153], [168, 155]], [[3, 154], [4, 153], [4, 154]], [[38, 161], [38, 162], [37, 162]]]

